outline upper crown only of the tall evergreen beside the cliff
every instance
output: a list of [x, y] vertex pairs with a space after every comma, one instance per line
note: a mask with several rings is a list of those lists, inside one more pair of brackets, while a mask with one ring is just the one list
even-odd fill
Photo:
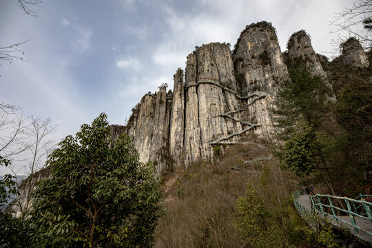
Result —
[[278, 128], [277, 138], [287, 141], [299, 121], [318, 129], [330, 111], [331, 89], [320, 76], [313, 76], [301, 63], [289, 68], [290, 78], [280, 83], [271, 110]]

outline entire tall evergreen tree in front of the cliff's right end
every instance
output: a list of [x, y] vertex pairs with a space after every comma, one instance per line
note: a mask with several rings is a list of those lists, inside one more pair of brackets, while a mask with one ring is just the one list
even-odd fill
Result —
[[324, 153], [331, 136], [327, 121], [333, 120], [331, 89], [303, 63], [293, 63], [289, 76], [290, 79], [279, 85], [275, 107], [271, 109], [277, 127], [276, 138], [281, 141], [275, 154], [282, 167], [298, 176], [318, 172], [331, 194], [335, 194], [329, 178], [328, 154]]

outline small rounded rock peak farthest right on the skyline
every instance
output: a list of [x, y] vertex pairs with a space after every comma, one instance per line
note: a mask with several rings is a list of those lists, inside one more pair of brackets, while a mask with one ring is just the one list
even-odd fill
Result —
[[340, 46], [342, 48], [342, 62], [356, 67], [368, 65], [366, 53], [357, 39], [351, 37]]

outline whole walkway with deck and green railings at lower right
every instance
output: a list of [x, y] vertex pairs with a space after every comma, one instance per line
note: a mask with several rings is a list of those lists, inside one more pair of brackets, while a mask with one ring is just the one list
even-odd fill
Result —
[[[327, 220], [339, 229], [349, 229], [361, 242], [372, 246], [372, 203], [364, 200], [366, 196], [369, 195], [355, 199], [322, 194], [309, 196], [300, 189], [293, 193], [293, 201], [309, 225], [314, 227], [316, 221]], [[344, 206], [337, 207], [338, 202]]]

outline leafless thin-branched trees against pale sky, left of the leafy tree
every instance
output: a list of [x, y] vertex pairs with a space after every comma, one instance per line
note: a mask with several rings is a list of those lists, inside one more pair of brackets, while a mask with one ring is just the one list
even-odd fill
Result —
[[50, 136], [55, 130], [50, 118], [23, 118], [19, 107], [0, 101], [0, 157], [10, 161], [7, 165], [15, 178], [28, 176], [22, 183], [16, 181], [20, 194], [12, 200], [19, 213], [30, 207], [30, 193], [54, 147]]

